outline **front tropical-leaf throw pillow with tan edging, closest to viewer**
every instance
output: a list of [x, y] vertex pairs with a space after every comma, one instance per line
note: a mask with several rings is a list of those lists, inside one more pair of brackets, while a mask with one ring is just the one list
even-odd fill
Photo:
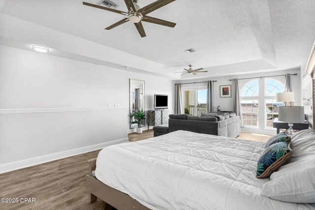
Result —
[[291, 157], [291, 143], [278, 142], [267, 147], [257, 162], [256, 178], [268, 178]]

